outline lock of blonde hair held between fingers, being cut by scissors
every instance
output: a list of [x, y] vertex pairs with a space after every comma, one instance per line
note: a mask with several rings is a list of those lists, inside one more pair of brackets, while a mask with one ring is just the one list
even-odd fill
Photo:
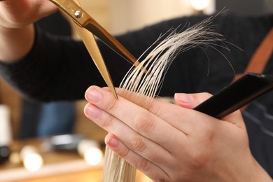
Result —
[[[132, 66], [127, 72], [120, 87], [123, 88], [120, 96], [134, 102], [135, 104], [148, 109], [151, 100], [156, 97], [164, 80], [167, 70], [179, 53], [190, 48], [214, 48], [225, 47], [220, 34], [213, 31], [211, 19], [214, 16], [203, 20], [197, 25], [185, 28], [184, 31], [176, 32], [176, 29], [168, 31], [158, 38], [146, 50], [148, 55], [142, 55], [139, 60], [141, 64]], [[167, 34], [169, 34], [167, 36]], [[220, 41], [221, 44], [216, 44]], [[132, 97], [130, 92], [137, 92]], [[122, 158], [118, 157], [110, 148], [106, 147], [104, 159], [104, 182], [133, 182], [135, 180], [136, 169]]]

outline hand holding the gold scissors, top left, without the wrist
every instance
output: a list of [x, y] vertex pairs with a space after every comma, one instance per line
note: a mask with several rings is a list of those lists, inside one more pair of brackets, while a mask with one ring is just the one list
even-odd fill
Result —
[[0, 1], [0, 26], [20, 28], [57, 10], [48, 0], [5, 0]]

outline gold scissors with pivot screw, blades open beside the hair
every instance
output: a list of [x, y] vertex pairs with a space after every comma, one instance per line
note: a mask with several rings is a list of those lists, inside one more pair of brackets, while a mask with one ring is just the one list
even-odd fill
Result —
[[88, 13], [81, 8], [78, 0], [50, 0], [52, 3], [62, 10], [66, 15], [69, 15], [73, 20], [78, 34], [83, 39], [83, 43], [90, 53], [94, 64], [96, 64], [97, 69], [101, 73], [104, 81], [109, 86], [113, 95], [118, 99], [115, 87], [113, 86], [113, 81], [106, 67], [104, 59], [97, 41], [94, 36], [97, 36], [101, 41], [108, 45], [112, 50], [117, 52], [120, 56], [127, 59], [129, 62], [137, 66], [139, 62], [137, 59], [121, 44], [116, 38], [111, 36], [108, 31], [106, 31], [98, 22], [96, 22]]

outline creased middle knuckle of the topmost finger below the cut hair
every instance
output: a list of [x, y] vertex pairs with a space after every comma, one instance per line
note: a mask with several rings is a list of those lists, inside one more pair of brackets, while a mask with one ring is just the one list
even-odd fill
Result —
[[139, 113], [139, 115], [134, 118], [134, 123], [136, 128], [141, 133], [149, 133], [155, 127], [155, 122], [151, 116], [148, 114]]

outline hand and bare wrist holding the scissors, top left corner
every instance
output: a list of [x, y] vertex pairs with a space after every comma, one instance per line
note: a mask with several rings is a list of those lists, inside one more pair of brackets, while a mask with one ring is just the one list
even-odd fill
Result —
[[25, 56], [34, 43], [33, 22], [57, 10], [48, 0], [0, 2], [0, 60], [12, 62]]

